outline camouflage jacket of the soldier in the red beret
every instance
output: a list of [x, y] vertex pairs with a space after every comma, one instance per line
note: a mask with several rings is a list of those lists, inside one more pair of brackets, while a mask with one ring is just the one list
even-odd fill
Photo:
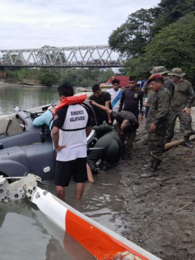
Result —
[[168, 128], [169, 109], [171, 103], [171, 93], [168, 89], [161, 87], [155, 92], [146, 120], [146, 129], [150, 130], [150, 125], [153, 123], [156, 126], [155, 133], [162, 136], [165, 135]]

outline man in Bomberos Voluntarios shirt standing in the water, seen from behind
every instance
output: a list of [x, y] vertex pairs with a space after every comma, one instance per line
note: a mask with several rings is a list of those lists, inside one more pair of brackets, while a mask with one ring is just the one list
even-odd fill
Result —
[[[65, 199], [64, 187], [70, 179], [76, 182], [75, 197], [80, 199], [87, 180], [87, 136], [92, 127], [88, 109], [78, 102], [66, 105], [67, 97], [74, 94], [73, 87], [62, 84], [58, 87], [60, 106], [55, 110], [53, 142], [57, 153], [55, 185], [58, 198]], [[74, 98], [73, 98], [74, 99]]]

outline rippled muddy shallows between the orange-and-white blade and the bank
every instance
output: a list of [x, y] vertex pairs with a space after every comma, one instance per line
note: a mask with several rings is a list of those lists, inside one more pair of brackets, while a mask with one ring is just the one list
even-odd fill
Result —
[[[81, 200], [74, 198], [75, 183], [71, 182], [65, 189], [66, 203], [112, 231], [121, 234], [124, 229], [124, 223], [120, 219], [121, 211], [123, 211], [122, 194], [124, 190], [122, 190], [120, 178], [117, 169], [100, 171], [98, 175], [94, 176], [94, 183], [85, 183], [85, 191]], [[44, 181], [41, 188], [55, 194], [53, 181]]]

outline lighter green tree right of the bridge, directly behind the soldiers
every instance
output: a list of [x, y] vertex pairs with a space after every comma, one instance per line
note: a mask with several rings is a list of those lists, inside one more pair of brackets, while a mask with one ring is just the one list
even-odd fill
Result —
[[195, 83], [195, 14], [190, 13], [162, 29], [147, 45], [145, 54], [129, 59], [126, 72], [141, 79], [153, 66], [180, 67]]

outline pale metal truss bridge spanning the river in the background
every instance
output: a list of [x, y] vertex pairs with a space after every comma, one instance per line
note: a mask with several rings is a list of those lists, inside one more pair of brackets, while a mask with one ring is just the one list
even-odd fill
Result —
[[108, 45], [0, 50], [0, 67], [122, 67]]

